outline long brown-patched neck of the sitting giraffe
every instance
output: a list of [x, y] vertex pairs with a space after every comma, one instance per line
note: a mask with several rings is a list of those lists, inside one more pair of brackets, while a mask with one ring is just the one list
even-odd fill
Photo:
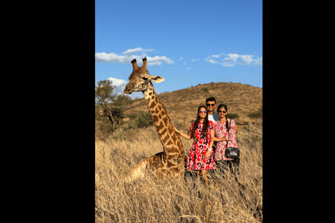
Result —
[[165, 107], [158, 98], [151, 82], [149, 82], [148, 89], [142, 92], [147, 101], [151, 117], [154, 120], [159, 139], [161, 139], [164, 155], [166, 157], [178, 156], [184, 159], [184, 146], [179, 137], [177, 137], [177, 133], [174, 132]]

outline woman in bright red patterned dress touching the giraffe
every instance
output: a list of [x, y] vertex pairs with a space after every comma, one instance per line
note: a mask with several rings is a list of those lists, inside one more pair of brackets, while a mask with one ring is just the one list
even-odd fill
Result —
[[[196, 128], [195, 128], [196, 126]], [[201, 174], [206, 182], [207, 169], [215, 169], [213, 144], [211, 137], [214, 137], [214, 123], [208, 120], [208, 114], [205, 106], [198, 107], [197, 120], [192, 124], [190, 132], [184, 134], [177, 130], [174, 126], [174, 131], [179, 133], [185, 139], [194, 139], [190, 154], [187, 157], [188, 169], [196, 169], [201, 171]]]

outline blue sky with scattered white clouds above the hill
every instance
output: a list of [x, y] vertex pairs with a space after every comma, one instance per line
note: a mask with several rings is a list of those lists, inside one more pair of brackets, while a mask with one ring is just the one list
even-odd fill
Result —
[[[164, 82], [157, 93], [210, 82], [262, 87], [262, 1], [96, 0], [96, 84], [123, 91], [133, 67]], [[143, 94], [133, 93], [132, 98]]]

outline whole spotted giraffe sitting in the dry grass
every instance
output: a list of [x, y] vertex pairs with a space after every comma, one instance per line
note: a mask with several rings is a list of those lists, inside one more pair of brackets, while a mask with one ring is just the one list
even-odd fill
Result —
[[163, 152], [156, 153], [151, 157], [145, 157], [139, 164], [126, 176], [124, 181], [131, 182], [136, 178], [144, 178], [146, 168], [156, 171], [158, 176], [179, 176], [184, 167], [184, 145], [179, 139], [179, 135], [173, 130], [172, 124], [165, 107], [158, 98], [154, 86], [155, 83], [163, 82], [163, 77], [151, 76], [147, 70], [147, 57], [142, 59], [141, 67], [137, 66], [136, 59], [133, 59], [133, 72], [128, 77], [124, 93], [131, 94], [133, 91], [142, 91], [147, 101], [151, 117], [158, 132], [159, 139], [163, 145]]

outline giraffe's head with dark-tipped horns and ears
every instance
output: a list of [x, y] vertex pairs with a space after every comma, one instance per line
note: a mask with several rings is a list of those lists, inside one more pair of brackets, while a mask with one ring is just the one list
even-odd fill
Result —
[[155, 83], [163, 82], [163, 77], [151, 76], [147, 70], [147, 57], [142, 59], [143, 64], [141, 67], [137, 66], [136, 59], [133, 59], [133, 72], [128, 77], [129, 83], [124, 89], [124, 93], [131, 94], [133, 91], [145, 91], [149, 86], [149, 82], [153, 81]]

